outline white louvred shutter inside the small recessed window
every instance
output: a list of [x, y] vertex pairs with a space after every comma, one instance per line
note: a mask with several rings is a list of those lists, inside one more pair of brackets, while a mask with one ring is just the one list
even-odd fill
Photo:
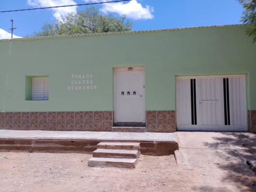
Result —
[[32, 77], [32, 100], [48, 99], [48, 77]]

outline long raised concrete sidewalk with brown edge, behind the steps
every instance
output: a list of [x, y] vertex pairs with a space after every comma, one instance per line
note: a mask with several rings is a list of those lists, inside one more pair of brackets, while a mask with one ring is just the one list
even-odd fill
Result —
[[170, 155], [179, 149], [172, 133], [0, 130], [0, 151], [92, 153], [99, 142], [137, 142], [143, 155]]

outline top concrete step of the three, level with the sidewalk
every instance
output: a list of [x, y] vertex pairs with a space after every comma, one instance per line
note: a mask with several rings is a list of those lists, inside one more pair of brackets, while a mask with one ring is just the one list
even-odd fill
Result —
[[126, 149], [139, 150], [140, 143], [138, 142], [100, 142], [97, 145], [98, 149]]

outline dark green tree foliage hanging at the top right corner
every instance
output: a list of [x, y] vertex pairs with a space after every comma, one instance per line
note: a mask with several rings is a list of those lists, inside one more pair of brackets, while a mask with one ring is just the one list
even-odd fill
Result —
[[238, 0], [244, 7], [242, 20], [243, 23], [251, 24], [246, 33], [252, 36], [253, 43], [256, 42], [256, 0]]

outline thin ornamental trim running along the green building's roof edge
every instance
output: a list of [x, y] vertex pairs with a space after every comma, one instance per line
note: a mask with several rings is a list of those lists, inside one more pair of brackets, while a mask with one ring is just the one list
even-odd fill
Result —
[[27, 38], [13, 38], [0, 39], [0, 42], [6, 41], [26, 41], [36, 39], [51, 39], [51, 38], [69, 38], [69, 37], [88, 37], [88, 36], [103, 36], [103, 35], [121, 35], [121, 34], [140, 34], [140, 33], [157, 33], [176, 30], [191, 30], [191, 29], [206, 29], [206, 28], [222, 28], [222, 27], [235, 27], [235, 26], [250, 26], [249, 24], [236, 24], [236, 25], [221, 25], [221, 26], [202, 26], [202, 27], [185, 27], [173, 29], [156, 29], [156, 30], [139, 30], [139, 31], [123, 31], [123, 32], [108, 32], [108, 33], [91, 33], [91, 34], [76, 34], [76, 35], [56, 35], [56, 36], [40, 36], [40, 37], [27, 37]]

